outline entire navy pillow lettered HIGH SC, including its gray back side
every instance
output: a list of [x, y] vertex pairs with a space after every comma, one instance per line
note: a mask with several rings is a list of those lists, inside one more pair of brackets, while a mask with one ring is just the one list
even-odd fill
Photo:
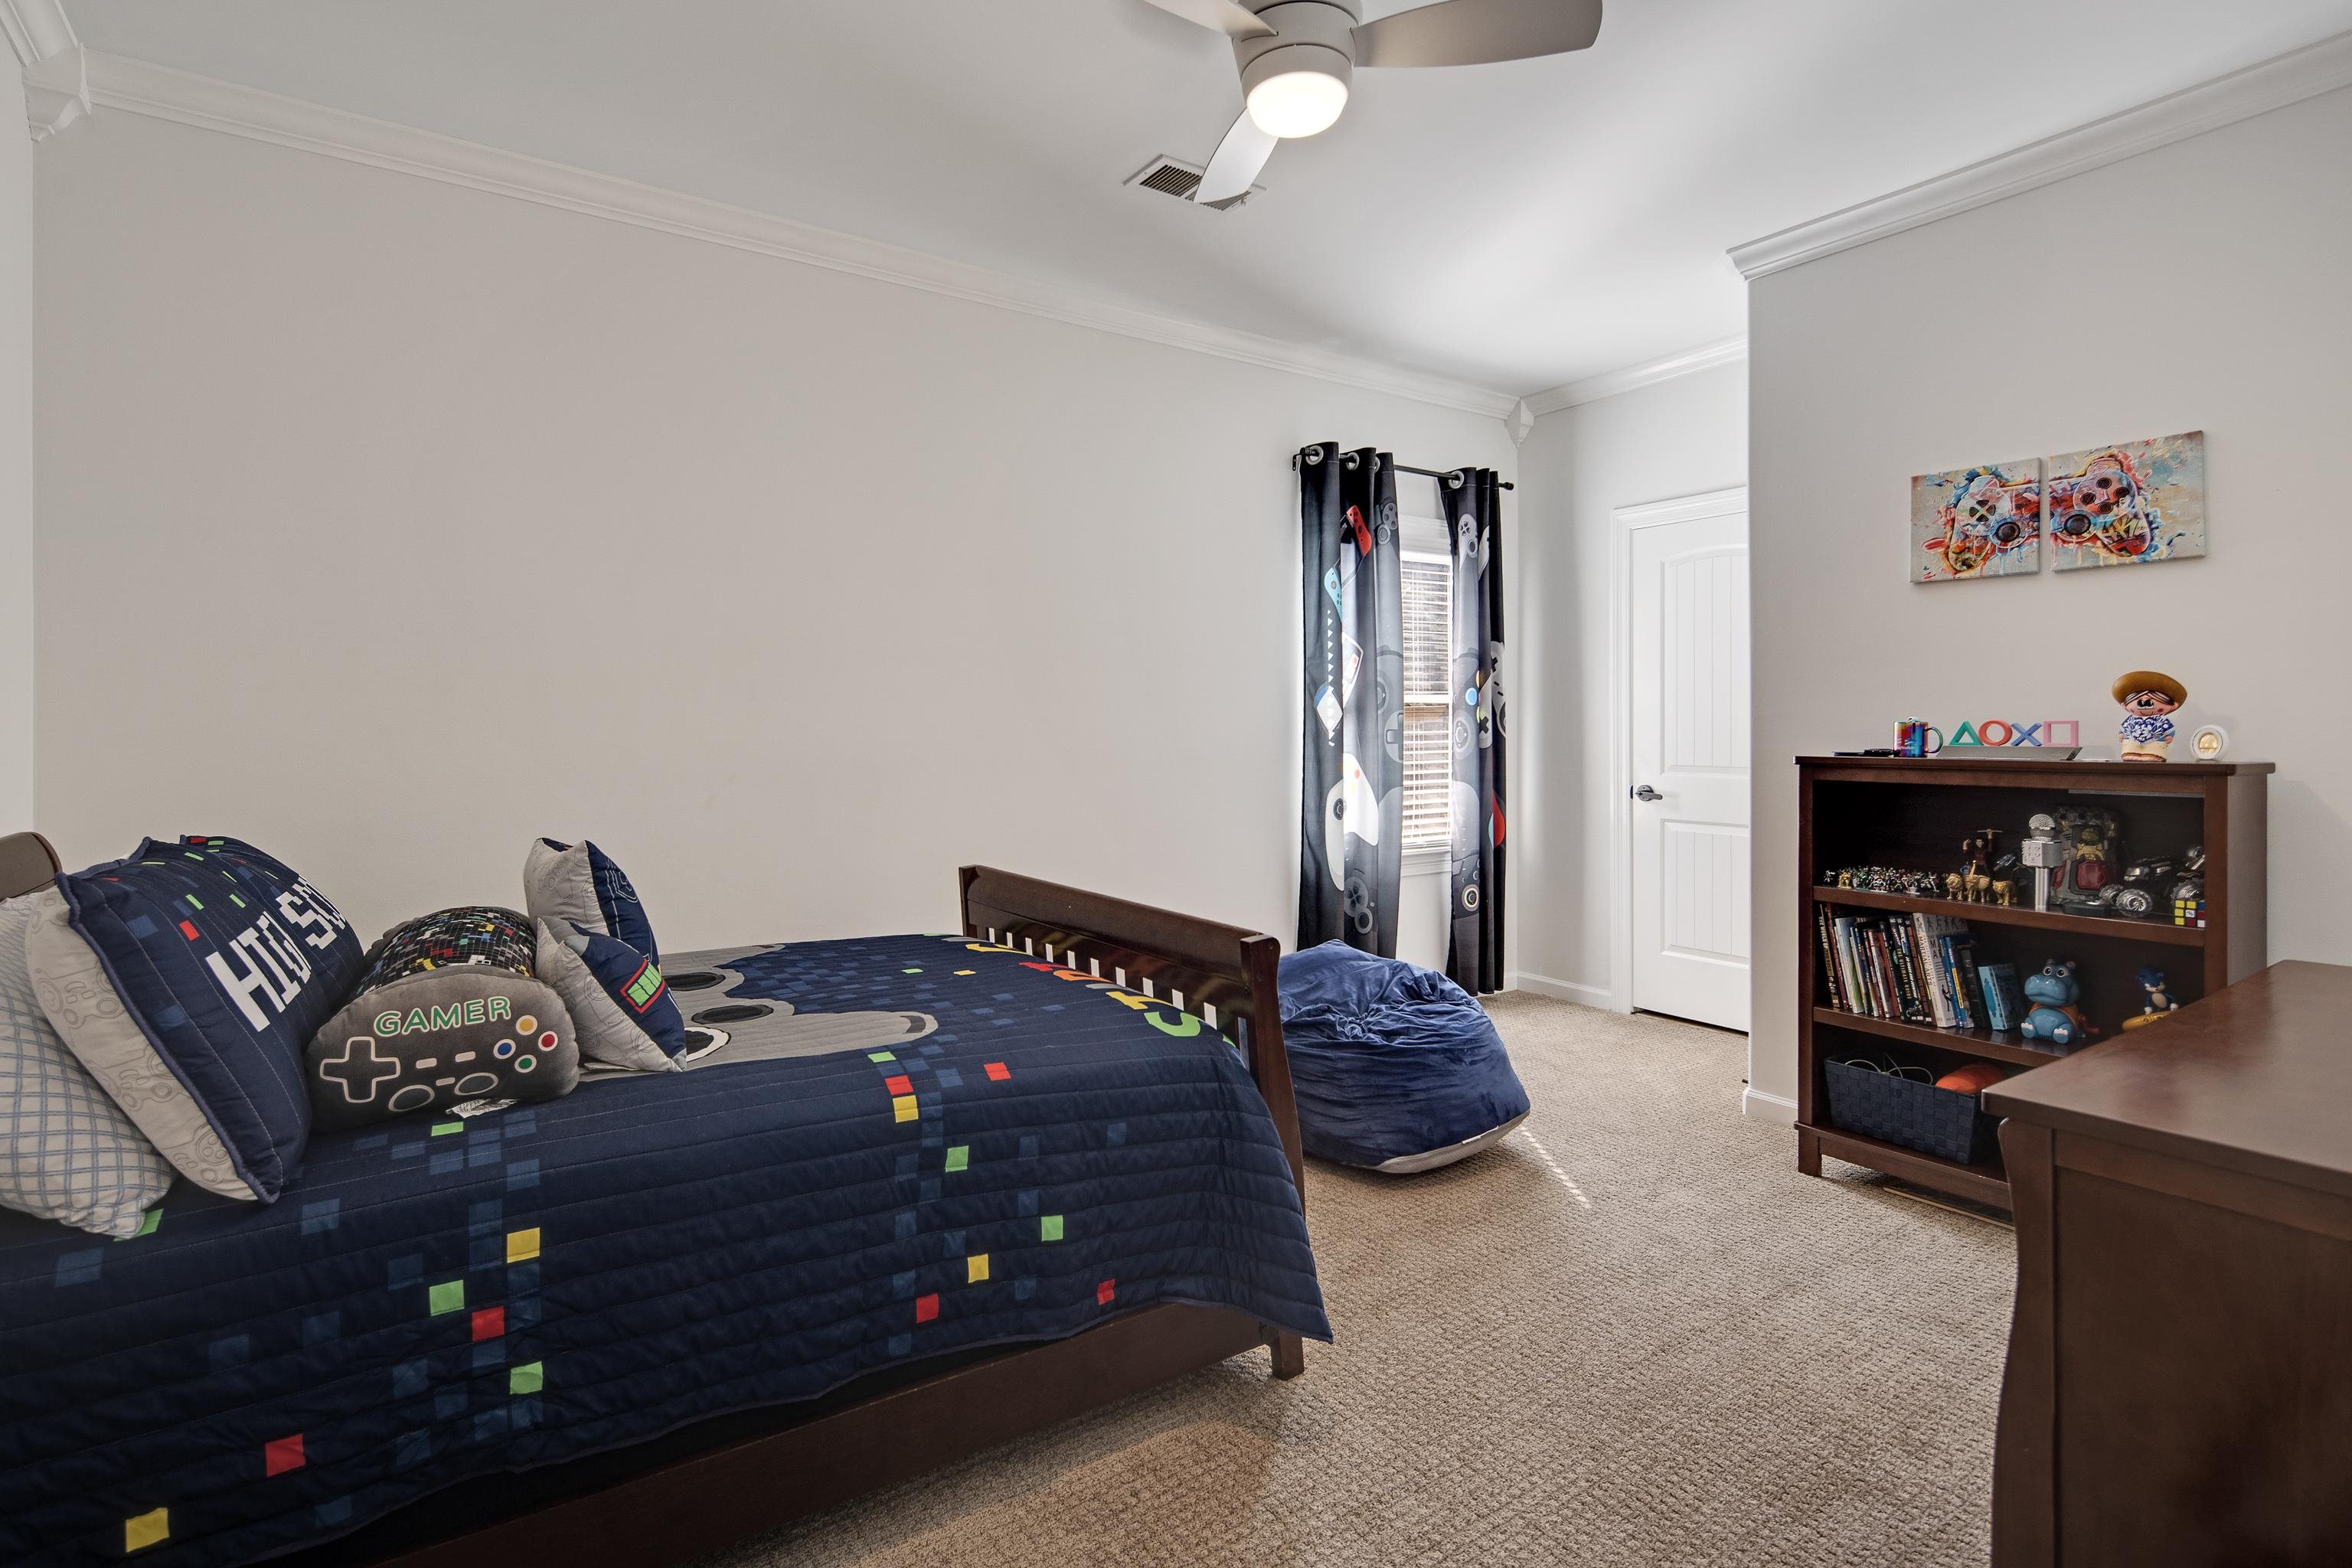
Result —
[[360, 978], [350, 922], [209, 837], [146, 839], [33, 900], [33, 990], [75, 1060], [188, 1180], [275, 1201], [310, 1138], [303, 1044]]

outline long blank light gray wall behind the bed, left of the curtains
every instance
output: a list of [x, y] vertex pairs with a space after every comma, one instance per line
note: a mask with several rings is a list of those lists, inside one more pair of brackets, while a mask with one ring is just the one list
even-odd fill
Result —
[[101, 110], [40, 160], [40, 820], [663, 945], [985, 860], [1294, 929], [1305, 440], [1496, 418]]

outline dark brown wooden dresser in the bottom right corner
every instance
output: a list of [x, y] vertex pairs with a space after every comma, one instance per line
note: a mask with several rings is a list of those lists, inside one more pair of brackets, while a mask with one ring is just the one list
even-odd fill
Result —
[[1985, 1110], [1994, 1566], [2352, 1563], [2352, 969], [2277, 964]]

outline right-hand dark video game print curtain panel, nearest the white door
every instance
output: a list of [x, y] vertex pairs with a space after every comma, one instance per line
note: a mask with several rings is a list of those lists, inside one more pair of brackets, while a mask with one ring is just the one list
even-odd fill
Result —
[[1437, 487], [1454, 550], [1454, 936], [1446, 978], [1503, 990], [1503, 508], [1491, 468]]

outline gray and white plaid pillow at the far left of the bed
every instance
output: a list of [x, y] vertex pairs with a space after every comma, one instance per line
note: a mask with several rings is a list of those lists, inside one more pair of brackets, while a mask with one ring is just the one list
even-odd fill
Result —
[[0, 903], [0, 1204], [101, 1237], [136, 1237], [172, 1161], [66, 1051], [33, 997], [33, 903]]

